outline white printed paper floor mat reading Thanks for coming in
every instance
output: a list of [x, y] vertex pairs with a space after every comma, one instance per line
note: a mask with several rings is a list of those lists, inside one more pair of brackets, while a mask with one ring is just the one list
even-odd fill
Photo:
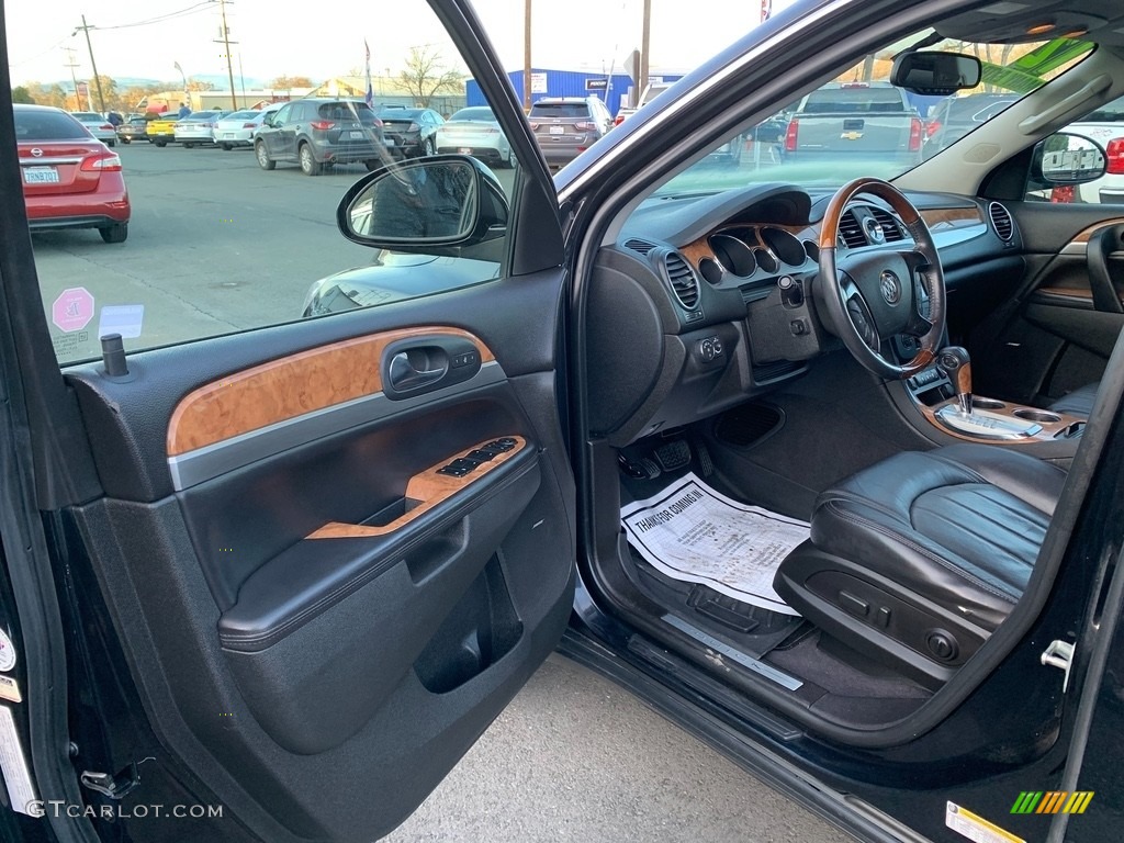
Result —
[[773, 591], [777, 568], [808, 525], [731, 500], [694, 473], [620, 510], [628, 543], [658, 571], [743, 602], [797, 615]]

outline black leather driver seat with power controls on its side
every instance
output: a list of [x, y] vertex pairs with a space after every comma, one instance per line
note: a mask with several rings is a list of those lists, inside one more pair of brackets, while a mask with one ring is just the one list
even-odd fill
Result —
[[909, 451], [816, 499], [777, 593], [851, 649], [930, 688], [1022, 596], [1066, 471], [994, 445]]

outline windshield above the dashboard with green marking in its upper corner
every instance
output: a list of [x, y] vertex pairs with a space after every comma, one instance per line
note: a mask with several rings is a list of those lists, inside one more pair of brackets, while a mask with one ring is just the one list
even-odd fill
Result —
[[[943, 40], [931, 30], [867, 56], [767, 119], [743, 127], [658, 191], [722, 190], [746, 182], [839, 185], [859, 175], [892, 180], [979, 129], [1089, 49], [1064, 39], [1018, 45]], [[890, 84], [909, 44], [980, 58], [982, 81], [950, 97]]]

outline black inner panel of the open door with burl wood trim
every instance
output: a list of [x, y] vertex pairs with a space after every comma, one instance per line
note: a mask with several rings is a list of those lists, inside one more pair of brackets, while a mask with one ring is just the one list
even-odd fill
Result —
[[[434, 297], [66, 371], [107, 493], [73, 552], [157, 733], [263, 839], [390, 831], [561, 636], [560, 296], [546, 272], [456, 293], [456, 326]], [[395, 361], [430, 380], [388, 395]]]

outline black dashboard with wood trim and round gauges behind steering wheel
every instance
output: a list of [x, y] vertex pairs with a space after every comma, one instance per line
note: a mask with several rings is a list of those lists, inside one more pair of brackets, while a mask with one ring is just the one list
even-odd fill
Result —
[[[623, 446], [777, 389], [841, 347], [817, 305], [832, 196], [758, 184], [640, 206], [600, 250], [590, 285], [592, 429]], [[981, 275], [1022, 271], [1018, 232], [1000, 203], [908, 199], [937, 246], [950, 317], [957, 292]], [[915, 245], [887, 203], [862, 196], [843, 211], [834, 243], [841, 268], [849, 257]], [[908, 360], [909, 339], [892, 338], [886, 353]]]

